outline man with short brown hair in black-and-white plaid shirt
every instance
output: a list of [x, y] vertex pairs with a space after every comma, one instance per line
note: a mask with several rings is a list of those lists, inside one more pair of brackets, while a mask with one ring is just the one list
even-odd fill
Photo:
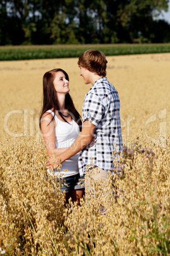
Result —
[[[106, 181], [109, 178], [108, 171], [112, 173], [114, 170], [110, 156], [115, 152], [114, 156], [119, 157], [118, 152], [122, 151], [119, 95], [107, 81], [107, 59], [102, 52], [87, 50], [79, 57], [78, 65], [84, 83], [92, 85], [82, 106], [82, 132], [72, 146], [59, 156], [60, 160], [48, 159], [46, 166], [60, 164], [82, 150], [79, 157], [81, 176], [84, 176], [93, 159], [94, 180], [101, 178]], [[96, 137], [96, 143], [86, 148], [93, 136]]]

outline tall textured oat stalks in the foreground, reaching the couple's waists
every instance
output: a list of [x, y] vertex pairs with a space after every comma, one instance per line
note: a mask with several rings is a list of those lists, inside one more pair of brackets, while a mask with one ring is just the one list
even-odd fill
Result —
[[41, 138], [6, 141], [0, 153], [0, 253], [169, 255], [169, 141], [161, 148], [141, 136], [133, 148], [125, 146], [114, 196], [108, 184], [108, 196], [101, 197], [96, 182], [95, 203], [82, 199], [78, 208], [72, 202], [65, 208], [53, 177], [46, 179]]

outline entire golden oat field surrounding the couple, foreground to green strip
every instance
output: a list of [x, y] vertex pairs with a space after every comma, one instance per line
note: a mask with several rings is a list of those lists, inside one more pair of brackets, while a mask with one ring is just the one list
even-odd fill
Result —
[[[107, 57], [107, 78], [121, 101], [124, 159], [114, 197], [64, 206], [46, 180], [39, 131], [42, 76], [69, 73], [81, 113], [84, 85], [77, 58], [0, 62], [0, 254], [169, 255], [170, 53]], [[109, 190], [109, 186], [108, 186]], [[108, 206], [100, 216], [100, 203]]]

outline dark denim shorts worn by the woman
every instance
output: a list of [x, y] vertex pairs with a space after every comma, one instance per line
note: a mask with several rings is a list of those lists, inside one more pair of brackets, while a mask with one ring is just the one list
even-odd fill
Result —
[[81, 179], [80, 174], [76, 174], [69, 177], [56, 178], [57, 182], [60, 182], [60, 191], [70, 192], [71, 190], [77, 190], [84, 188], [84, 179]]

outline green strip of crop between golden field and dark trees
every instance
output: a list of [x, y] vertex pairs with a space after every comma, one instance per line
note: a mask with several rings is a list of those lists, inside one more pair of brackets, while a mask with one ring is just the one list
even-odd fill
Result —
[[89, 48], [101, 50], [106, 56], [170, 52], [170, 44], [1, 46], [0, 60], [72, 58]]

